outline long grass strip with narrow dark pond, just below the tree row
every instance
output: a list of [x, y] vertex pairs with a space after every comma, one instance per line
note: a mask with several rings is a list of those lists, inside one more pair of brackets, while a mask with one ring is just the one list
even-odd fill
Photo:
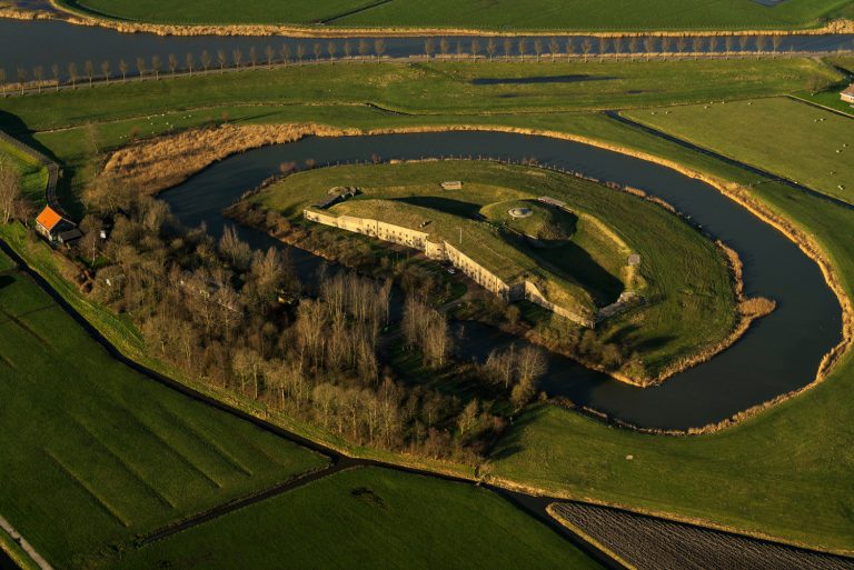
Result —
[[0, 99], [4, 111], [0, 128], [40, 131], [142, 116], [147, 120], [139, 121], [139, 136], [146, 136], [153, 130], [149, 123], [157, 119], [155, 113], [179, 111], [180, 117], [191, 114], [192, 122], [203, 123], [221, 118], [214, 108], [248, 103], [256, 108], [251, 116], [267, 122], [276, 119], [265, 106], [287, 111], [318, 103], [375, 104], [374, 121], [380, 123], [389, 111], [431, 116], [630, 109], [785, 94], [803, 89], [812, 77], [842, 79], [840, 72], [807, 58], [678, 64], [544, 60], [292, 66]]

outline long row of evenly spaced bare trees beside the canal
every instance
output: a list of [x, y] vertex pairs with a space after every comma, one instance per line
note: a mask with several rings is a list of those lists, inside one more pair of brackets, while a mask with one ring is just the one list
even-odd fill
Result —
[[[743, 54], [743, 53], [781, 53], [782, 36], [693, 36], [693, 37], [602, 37], [602, 38], [471, 38], [456, 39], [427, 38], [424, 40], [420, 56], [428, 60], [449, 58], [487, 59], [532, 59], [542, 61], [548, 58], [557, 61], [560, 58], [572, 60], [604, 54], [675, 54], [677, 57], [697, 53]], [[23, 94], [27, 89], [41, 92], [43, 88], [59, 90], [67, 86], [77, 89], [78, 83], [92, 86], [96, 81], [126, 82], [129, 76], [152, 77], [160, 79], [161, 74], [178, 73], [192, 76], [197, 72], [225, 72], [240, 69], [271, 69], [274, 66], [306, 63], [309, 61], [335, 62], [341, 60], [383, 61], [387, 53], [387, 43], [383, 38], [316, 41], [311, 44], [282, 43], [278, 48], [268, 44], [264, 50], [256, 47], [235, 48], [232, 50], [202, 50], [200, 53], [186, 52], [183, 58], [169, 53], [166, 58], [155, 54], [150, 58], [137, 57], [120, 59], [117, 63], [103, 60], [96, 62], [86, 60], [82, 66], [70, 62], [64, 68], [54, 63], [49, 68], [34, 66], [32, 69], [22, 67], [7, 72], [0, 68], [0, 92], [6, 96], [8, 90], [17, 89]]]

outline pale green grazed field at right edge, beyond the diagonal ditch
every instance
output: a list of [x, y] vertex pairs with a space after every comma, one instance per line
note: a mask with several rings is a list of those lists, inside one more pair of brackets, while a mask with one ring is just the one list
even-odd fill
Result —
[[787, 98], [625, 111], [624, 114], [854, 203], [854, 118]]

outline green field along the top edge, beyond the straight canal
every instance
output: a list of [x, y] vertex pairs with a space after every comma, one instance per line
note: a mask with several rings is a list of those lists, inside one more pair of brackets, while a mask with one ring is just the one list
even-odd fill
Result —
[[[332, 19], [341, 28], [465, 28], [476, 30], [753, 30], [817, 26], [827, 17], [851, 17], [850, 0], [788, 0], [767, 8], [753, 0], [687, 4], [676, 0], [306, 0], [287, 4], [252, 0], [62, 0], [110, 18], [170, 23], [299, 23]], [[355, 12], [344, 16], [347, 12]], [[339, 18], [336, 18], [339, 17]]]

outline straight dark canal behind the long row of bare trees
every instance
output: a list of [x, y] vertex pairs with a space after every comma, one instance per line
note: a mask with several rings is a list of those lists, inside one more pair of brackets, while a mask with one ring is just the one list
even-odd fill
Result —
[[[733, 39], [732, 50], [734, 51], [778, 51], [785, 53], [788, 51], [826, 53], [836, 50], [854, 49], [854, 34], [794, 34], [779, 38], [779, 46], [773, 47], [773, 40], [762, 37], [757, 44], [757, 38], [744, 37], [745, 43], [742, 46], [738, 38]], [[448, 38], [448, 54], [454, 56], [458, 49], [463, 53], [471, 52], [471, 37]], [[514, 38], [508, 46], [509, 53], [517, 56], [519, 53], [519, 41], [524, 41], [528, 57], [535, 56], [535, 41], [537, 39], [543, 44], [545, 52], [549, 51], [550, 38]], [[616, 44], [614, 40], [606, 40], [606, 44], [599, 43], [599, 39], [587, 36], [558, 36], [559, 51], [566, 51], [567, 41], [572, 42], [576, 54], [583, 53], [584, 44], [589, 41], [590, 53], [614, 53]], [[76, 26], [61, 20], [11, 20], [0, 18], [0, 69], [4, 69], [7, 81], [17, 81], [17, 70], [21, 69], [29, 79], [33, 77], [36, 67], [42, 68], [46, 79], [52, 79], [52, 66], [58, 66], [59, 76], [62, 80], [69, 77], [69, 64], [77, 66], [77, 73], [80, 78], [86, 76], [86, 61], [91, 61], [96, 76], [101, 76], [101, 63], [107, 61], [110, 64], [110, 73], [113, 77], [120, 77], [119, 62], [125, 60], [128, 64], [129, 76], [138, 74], [137, 58], [146, 61], [147, 69], [150, 71], [151, 58], [157, 56], [161, 61], [161, 71], [169, 70], [169, 54], [177, 58], [177, 69], [185, 69], [187, 53], [193, 57], [196, 69], [201, 68], [201, 53], [207, 51], [211, 58], [211, 66], [218, 67], [218, 51], [222, 50], [228, 64], [234, 63], [235, 50], [240, 50], [244, 64], [248, 64], [249, 52], [255, 48], [258, 62], [266, 62], [266, 48], [269, 46], [275, 52], [275, 60], [281, 59], [281, 48], [287, 46], [289, 59], [297, 59], [297, 50], [302, 46], [305, 50], [305, 61], [316, 59], [315, 46], [319, 46], [320, 59], [329, 58], [329, 44], [335, 46], [335, 57], [340, 58], [345, 54], [345, 43], [349, 44], [354, 57], [359, 54], [360, 40], [365, 40], [370, 54], [376, 53], [375, 37], [366, 38], [320, 38], [320, 39], [300, 39], [288, 38], [285, 36], [157, 36], [153, 33], [122, 33], [108, 28]], [[383, 38], [384, 54], [390, 58], [421, 57], [425, 53], [425, 37], [410, 38]], [[478, 54], [481, 58], [487, 57], [486, 49], [489, 38], [477, 38]], [[620, 40], [619, 51], [629, 53], [633, 49], [629, 46], [629, 39]], [[669, 46], [663, 50], [661, 38], [649, 38], [652, 42], [649, 48], [653, 52], [677, 51], [675, 39], [669, 39]], [[505, 39], [495, 38], [496, 57], [505, 54]], [[458, 48], [459, 44], [459, 48]], [[646, 51], [645, 38], [638, 38], [634, 51]], [[719, 52], [726, 51], [724, 38], [715, 38], [715, 46], [709, 46], [709, 38], [703, 38], [702, 44], [695, 47], [693, 39], [686, 39], [682, 51], [702, 51]], [[433, 39], [434, 56], [441, 53], [440, 38]]]

